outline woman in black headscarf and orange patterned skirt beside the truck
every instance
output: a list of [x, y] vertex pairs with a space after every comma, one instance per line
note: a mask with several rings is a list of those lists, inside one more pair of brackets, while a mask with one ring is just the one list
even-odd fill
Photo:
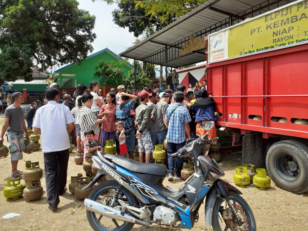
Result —
[[[211, 132], [208, 138], [216, 137], [215, 125], [212, 129], [205, 130], [205, 126], [209, 121], [217, 120], [214, 111], [215, 101], [207, 95], [205, 89], [200, 89], [197, 97], [195, 103], [189, 106], [189, 111], [196, 114], [196, 135], [203, 136], [206, 132]], [[207, 155], [209, 149], [210, 144], [207, 144], [201, 151], [203, 151], [204, 155]]]

